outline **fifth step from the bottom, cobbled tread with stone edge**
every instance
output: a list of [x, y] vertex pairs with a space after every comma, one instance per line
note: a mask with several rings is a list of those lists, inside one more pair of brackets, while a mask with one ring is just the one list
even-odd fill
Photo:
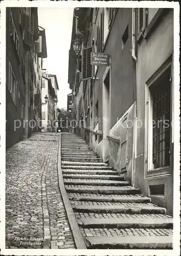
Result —
[[125, 186], [83, 186], [83, 185], [65, 185], [67, 193], [91, 193], [91, 194], [113, 194], [113, 195], [135, 195], [140, 194], [140, 189]]

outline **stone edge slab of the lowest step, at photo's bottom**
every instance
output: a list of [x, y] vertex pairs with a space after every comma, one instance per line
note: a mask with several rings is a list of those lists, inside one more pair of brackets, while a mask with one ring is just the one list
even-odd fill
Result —
[[172, 236], [110, 236], [110, 237], [86, 237], [86, 240], [90, 243], [90, 247], [101, 248], [132, 248], [132, 249], [172, 249], [173, 237]]

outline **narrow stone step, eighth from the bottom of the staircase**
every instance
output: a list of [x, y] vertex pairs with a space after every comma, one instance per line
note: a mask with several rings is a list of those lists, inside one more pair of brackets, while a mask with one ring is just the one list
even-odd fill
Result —
[[67, 168], [66, 167], [62, 167], [62, 173], [67, 175], [67, 174], [71, 174], [71, 175], [74, 175], [74, 174], [77, 174], [77, 175], [82, 175], [82, 174], [85, 174], [85, 175], [114, 175], [114, 176], [117, 176], [118, 175], [118, 172], [115, 172], [115, 170], [98, 170], [98, 169], [86, 169], [83, 168], [83, 169], [71, 169], [71, 168]]

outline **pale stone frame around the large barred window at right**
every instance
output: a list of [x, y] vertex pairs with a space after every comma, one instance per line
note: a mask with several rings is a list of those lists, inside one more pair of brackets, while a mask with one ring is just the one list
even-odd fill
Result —
[[[171, 152], [170, 154], [170, 164], [169, 166], [163, 166], [158, 168], [150, 168], [150, 162], [152, 159], [152, 99], [150, 88], [154, 82], [156, 82], [164, 72], [168, 69], [171, 69], [170, 75], [170, 123], [173, 120], [172, 114], [172, 90], [173, 90], [173, 60], [170, 57], [162, 67], [150, 78], [145, 84], [145, 177], [155, 176], [155, 175], [163, 175], [171, 173]], [[170, 125], [170, 151], [172, 144], [172, 125]]]

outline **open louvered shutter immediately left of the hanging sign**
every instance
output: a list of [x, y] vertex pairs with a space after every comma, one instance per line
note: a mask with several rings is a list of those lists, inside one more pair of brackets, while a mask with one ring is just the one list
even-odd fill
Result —
[[93, 66], [91, 65], [92, 46], [82, 50], [82, 80], [93, 78]]

